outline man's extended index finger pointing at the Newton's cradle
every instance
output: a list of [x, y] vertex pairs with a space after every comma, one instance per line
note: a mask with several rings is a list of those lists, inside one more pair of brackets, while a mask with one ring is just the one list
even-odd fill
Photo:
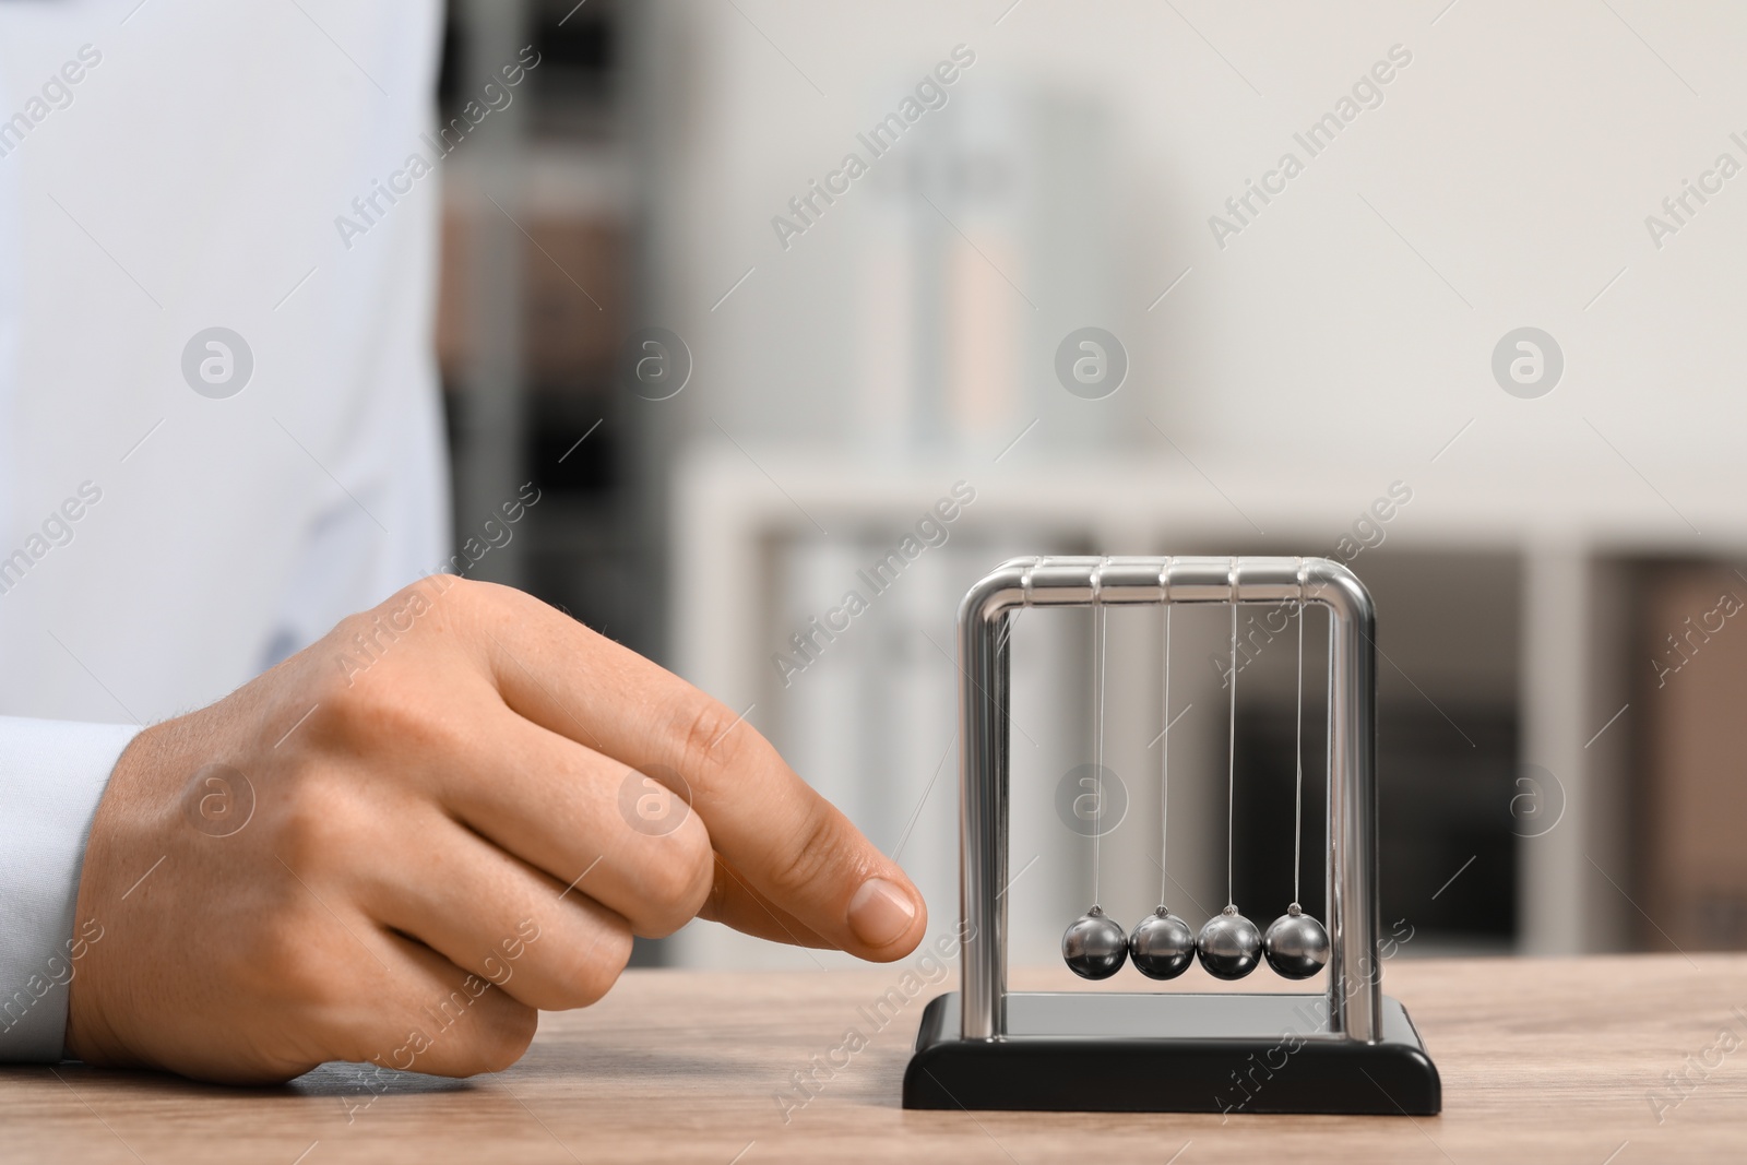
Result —
[[816, 936], [877, 961], [915, 948], [915, 886], [741, 714], [531, 596], [473, 587], [489, 589], [480, 646], [512, 711], [652, 776], [676, 770], [716, 852]]

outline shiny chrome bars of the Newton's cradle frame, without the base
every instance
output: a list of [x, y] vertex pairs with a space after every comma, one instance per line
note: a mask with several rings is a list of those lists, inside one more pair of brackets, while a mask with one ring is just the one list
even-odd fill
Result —
[[1010, 559], [959, 604], [959, 896], [964, 1039], [1006, 1037], [1008, 620], [1025, 606], [1314, 603], [1329, 611], [1328, 1018], [1382, 1037], [1377, 966], [1377, 613], [1359, 578], [1328, 559]]

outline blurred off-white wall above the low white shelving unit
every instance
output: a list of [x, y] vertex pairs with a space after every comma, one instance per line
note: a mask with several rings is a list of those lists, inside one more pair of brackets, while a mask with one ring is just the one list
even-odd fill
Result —
[[[1441, 16], [1433, 2], [1179, 3], [1179, 17], [1024, 0], [996, 24], [1003, 7], [746, 0], [685, 5], [673, 21], [674, 84], [695, 100], [659, 220], [683, 239], [660, 271], [659, 311], [697, 351], [690, 431], [715, 437], [708, 416], [737, 435], [854, 440], [879, 412], [868, 395], [900, 407], [917, 362], [889, 348], [914, 332], [903, 299], [915, 285], [893, 269], [910, 262], [901, 227], [938, 217], [914, 197], [921, 213], [907, 213], [882, 187], [956, 138], [1019, 171], [1017, 194], [954, 222], [1036, 304], [947, 231], [945, 391], [975, 391], [952, 369], [1012, 374], [961, 437], [999, 444], [1053, 407], [1060, 424], [1032, 437], [1060, 440], [1055, 430], [1094, 409], [1050, 391], [1048, 358], [1067, 328], [1099, 323], [1132, 356], [1132, 391], [1106, 412], [1150, 414], [1186, 451], [1239, 468], [1314, 473], [1333, 451], [1384, 484], [1408, 451], [1429, 456], [1476, 417], [1452, 451], [1457, 487], [1532, 480], [1553, 505], [1590, 480], [1642, 491], [1599, 430], [1677, 508], [1714, 489], [1747, 409], [1731, 391], [1747, 176], [1661, 250], [1644, 218], [1719, 152], [1747, 164], [1728, 138], [1747, 131], [1747, 114], [1731, 115], [1747, 110], [1733, 68], [1747, 12], [1459, 0]], [[784, 252], [772, 215], [961, 42], [977, 63], [950, 105]], [[1382, 107], [1221, 250], [1209, 215], [1282, 150], [1307, 157], [1293, 133], [1396, 44], [1412, 65]], [[1066, 164], [1060, 150], [1027, 154], [1060, 145], [1039, 128], [1052, 115], [1102, 134], [1080, 150], [1094, 164], [1060, 204], [1038, 189]], [[1066, 286], [1050, 255], [1064, 238], [1101, 248]], [[1564, 383], [1543, 400], [1508, 396], [1488, 372], [1494, 344], [1520, 325], [1565, 353]], [[889, 374], [870, 386], [868, 367]], [[1132, 438], [1165, 449], [1144, 424]]]

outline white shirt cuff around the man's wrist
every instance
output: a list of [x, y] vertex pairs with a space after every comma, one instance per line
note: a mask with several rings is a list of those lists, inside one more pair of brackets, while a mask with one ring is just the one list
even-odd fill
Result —
[[138, 732], [0, 716], [0, 1062], [61, 1058], [86, 838]]

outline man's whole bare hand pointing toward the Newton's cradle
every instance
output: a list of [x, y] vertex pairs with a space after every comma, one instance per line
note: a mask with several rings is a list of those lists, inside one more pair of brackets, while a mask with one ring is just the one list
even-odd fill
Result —
[[224, 1081], [494, 1071], [536, 1008], [594, 1003], [632, 934], [694, 915], [879, 961], [928, 926], [734, 711], [438, 575], [128, 748], [79, 886], [101, 941], [66, 1046]]

